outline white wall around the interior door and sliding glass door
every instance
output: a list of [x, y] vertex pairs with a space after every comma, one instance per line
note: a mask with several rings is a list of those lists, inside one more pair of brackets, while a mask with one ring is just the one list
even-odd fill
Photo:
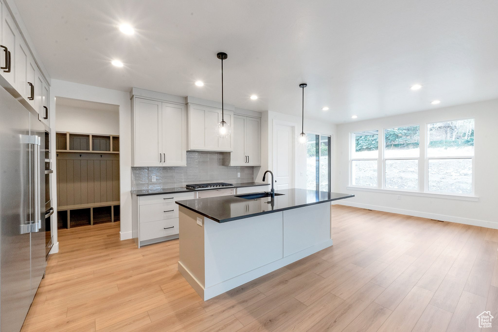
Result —
[[[254, 181], [261, 182], [264, 171], [267, 169], [270, 171], [273, 170], [273, 125], [276, 123], [286, 123], [295, 126], [294, 187], [306, 189], [306, 146], [297, 143], [297, 135], [301, 132], [301, 117], [275, 111], [262, 112], [261, 167], [259, 169], [254, 169]], [[334, 123], [310, 120], [305, 117], [304, 132], [330, 135], [332, 137], [332, 149], [334, 151], [334, 135], [336, 132], [336, 125]], [[332, 154], [332, 156], [334, 155]], [[267, 182], [269, 182], [269, 180]]]

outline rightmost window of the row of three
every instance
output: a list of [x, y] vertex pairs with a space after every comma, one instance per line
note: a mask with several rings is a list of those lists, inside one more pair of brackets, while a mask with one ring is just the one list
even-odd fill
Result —
[[473, 194], [474, 119], [427, 125], [427, 190]]

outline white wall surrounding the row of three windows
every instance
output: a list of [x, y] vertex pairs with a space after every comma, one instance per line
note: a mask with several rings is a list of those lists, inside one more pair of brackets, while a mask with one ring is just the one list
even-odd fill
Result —
[[[350, 133], [354, 131], [396, 127], [459, 118], [475, 118], [475, 195], [476, 201], [448, 198], [421, 197], [367, 192], [348, 189]], [[460, 105], [430, 111], [420, 111], [373, 120], [340, 124], [337, 126], [335, 153], [334, 191], [352, 193], [356, 197], [338, 202], [372, 210], [394, 212], [410, 216], [454, 221], [498, 228], [496, 205], [498, 202], [498, 148], [496, 128], [498, 124], [498, 100]]]

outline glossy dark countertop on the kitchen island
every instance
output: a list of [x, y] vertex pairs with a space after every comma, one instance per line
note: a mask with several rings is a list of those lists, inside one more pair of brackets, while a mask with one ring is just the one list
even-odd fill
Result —
[[254, 200], [220, 196], [178, 201], [176, 204], [214, 221], [227, 222], [355, 197], [350, 194], [306, 189], [284, 189], [275, 193], [283, 195], [273, 199], [265, 197]]

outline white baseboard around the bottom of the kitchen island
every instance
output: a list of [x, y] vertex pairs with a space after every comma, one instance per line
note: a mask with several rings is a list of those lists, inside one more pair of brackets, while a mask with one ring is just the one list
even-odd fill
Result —
[[199, 294], [199, 296], [204, 300], [209, 300], [217, 295], [223, 294], [231, 289], [234, 289], [238, 286], [244, 285], [245, 283], [259, 278], [267, 273], [275, 271], [285, 265], [298, 261], [304, 257], [307, 257], [315, 252], [323, 250], [327, 247], [330, 247], [333, 244], [332, 239], [327, 240], [322, 243], [315, 244], [309, 248], [303, 249], [296, 253], [293, 253], [289, 256], [280, 258], [274, 262], [258, 267], [254, 270], [248, 271], [241, 275], [238, 275], [234, 278], [225, 280], [219, 284], [213, 285], [208, 288], [204, 288], [201, 282], [197, 280], [196, 277], [181, 263], [178, 262], [178, 271], [182, 274], [182, 276], [188, 281], [188, 283], [192, 286], [192, 288]]

